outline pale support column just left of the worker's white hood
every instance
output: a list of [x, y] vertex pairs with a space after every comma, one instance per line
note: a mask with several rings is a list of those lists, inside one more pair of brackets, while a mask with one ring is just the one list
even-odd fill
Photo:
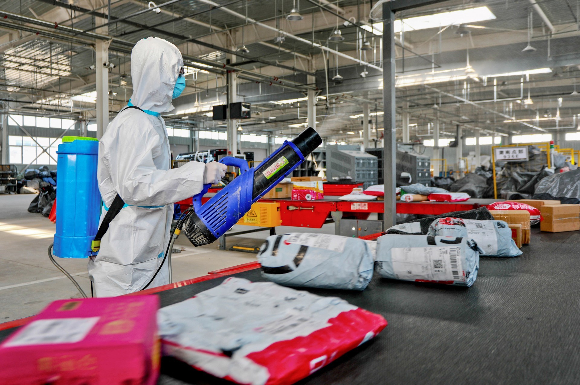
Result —
[[[95, 17], [96, 25], [107, 21]], [[100, 27], [97, 33], [106, 35], [108, 27]], [[97, 39], [95, 41], [95, 72], [96, 72], [96, 110], [97, 110], [97, 139], [103, 137], [108, 126], [108, 46], [111, 41]]]

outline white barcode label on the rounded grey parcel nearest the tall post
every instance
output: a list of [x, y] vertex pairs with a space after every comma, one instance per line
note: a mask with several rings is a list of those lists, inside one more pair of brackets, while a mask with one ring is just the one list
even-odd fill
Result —
[[400, 280], [465, 281], [461, 247], [392, 248], [391, 263]]

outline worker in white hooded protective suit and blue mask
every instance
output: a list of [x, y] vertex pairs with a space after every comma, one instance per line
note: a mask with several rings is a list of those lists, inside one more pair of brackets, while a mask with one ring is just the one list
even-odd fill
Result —
[[[171, 168], [162, 112], [185, 88], [183, 58], [175, 45], [159, 38], [137, 42], [131, 52], [133, 96], [99, 141], [97, 179], [103, 199], [101, 218], [117, 193], [125, 206], [111, 221], [99, 254], [89, 260], [96, 296], [138, 291], [154, 276], [169, 242], [173, 203], [218, 182], [226, 166], [188, 162]], [[170, 251], [171, 252], [171, 251]], [[149, 287], [169, 283], [168, 263]]]

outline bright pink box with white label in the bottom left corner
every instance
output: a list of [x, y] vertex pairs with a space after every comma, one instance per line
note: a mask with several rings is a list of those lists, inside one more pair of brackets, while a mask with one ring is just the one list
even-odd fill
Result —
[[158, 309], [156, 295], [55, 301], [0, 344], [0, 382], [153, 385]]

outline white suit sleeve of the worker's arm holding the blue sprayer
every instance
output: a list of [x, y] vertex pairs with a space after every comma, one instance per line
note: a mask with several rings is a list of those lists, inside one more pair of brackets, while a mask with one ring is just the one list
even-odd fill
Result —
[[[108, 151], [103, 151], [103, 163], [111, 182], [126, 204], [132, 206], [165, 206], [201, 192], [205, 164], [188, 162], [179, 168], [159, 170], [153, 161], [160, 142], [148, 115], [133, 110], [124, 112], [129, 119], [119, 124], [119, 133]], [[134, 127], [135, 120], [148, 127]], [[121, 149], [123, 149], [121, 151]]]

